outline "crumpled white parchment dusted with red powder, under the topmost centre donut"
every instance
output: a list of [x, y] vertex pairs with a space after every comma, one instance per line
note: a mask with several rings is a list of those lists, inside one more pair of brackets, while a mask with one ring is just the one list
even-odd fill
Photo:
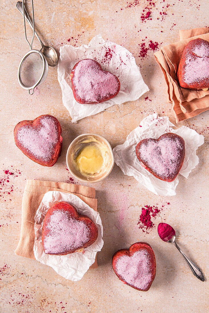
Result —
[[[121, 82], [118, 95], [97, 105], [76, 102], [69, 75], [73, 66], [82, 59], [94, 59], [99, 62], [102, 69], [115, 74]], [[101, 35], [95, 36], [88, 45], [83, 44], [79, 48], [69, 44], [60, 47], [57, 74], [62, 89], [62, 102], [71, 115], [72, 123], [99, 113], [114, 104], [137, 100], [149, 90], [133, 55], [120, 45], [104, 40]]]

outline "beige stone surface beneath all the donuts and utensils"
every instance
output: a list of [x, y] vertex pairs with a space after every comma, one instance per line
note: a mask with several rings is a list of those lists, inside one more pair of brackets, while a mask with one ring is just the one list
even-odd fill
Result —
[[[150, 113], [167, 115], [175, 122], [171, 105], [166, 103], [162, 73], [151, 52], [142, 60], [138, 57], [139, 44], [145, 39], [146, 45], [148, 40], [166, 45], [178, 40], [179, 29], [208, 26], [208, 1], [173, 0], [163, 3], [157, 0], [152, 20], [146, 23], [142, 23], [140, 16], [147, 1], [135, 0], [131, 3], [138, 4], [126, 8], [125, 0], [34, 0], [35, 24], [46, 43], [52, 44], [58, 51], [61, 44], [68, 43], [68, 38], [73, 37], [70, 43], [79, 46], [88, 44], [92, 37], [100, 33], [103, 38], [131, 51], [150, 88], [137, 101], [115, 105], [72, 124], [62, 104], [57, 68], [49, 68], [46, 82], [32, 96], [19, 86], [19, 62], [28, 50], [23, 20], [15, 8], [15, 1], [1, 0], [1, 181], [5, 177], [3, 170], [9, 169], [16, 174], [11, 175], [9, 182], [0, 190], [0, 312], [209, 311], [208, 112], [178, 125], [189, 126], [203, 134], [205, 143], [198, 149], [200, 162], [189, 178], [179, 176], [176, 196], [154, 195], [133, 177], [124, 176], [116, 165], [108, 178], [93, 184], [104, 225], [105, 243], [98, 253], [98, 269], [89, 270], [81, 281], [75, 283], [57, 275], [50, 267], [14, 254], [20, 234], [25, 180], [36, 178], [66, 182], [69, 175], [65, 156], [72, 139], [84, 132], [94, 132], [105, 136], [114, 147], [123, 143], [130, 131]], [[167, 3], [170, 5], [168, 8]], [[160, 12], [163, 10], [167, 15], [161, 21]], [[36, 41], [34, 47], [39, 47]], [[147, 96], [152, 101], [145, 100]], [[41, 167], [29, 160], [13, 140], [13, 129], [19, 121], [32, 120], [41, 114], [56, 116], [63, 130], [62, 155], [52, 168]], [[10, 192], [11, 189], [13, 191]], [[173, 245], [159, 239], [156, 228], [148, 234], [138, 228], [141, 208], [156, 203], [158, 207], [164, 207], [154, 223], [157, 225], [166, 220], [176, 229], [178, 243], [201, 267], [205, 282], [192, 275]], [[151, 289], [145, 293], [123, 285], [111, 268], [115, 251], [128, 248], [137, 241], [151, 244], [157, 262], [156, 278]]]

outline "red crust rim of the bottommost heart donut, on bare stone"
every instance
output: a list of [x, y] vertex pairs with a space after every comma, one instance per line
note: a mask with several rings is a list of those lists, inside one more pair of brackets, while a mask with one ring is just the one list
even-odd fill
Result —
[[[120, 259], [121, 255], [132, 256], [135, 252], [137, 252], [141, 249], [147, 250], [148, 254], [150, 255], [150, 261], [151, 261], [151, 266], [152, 266], [152, 278], [150, 280], [149, 285], [147, 286], [147, 289], [145, 289], [145, 290], [138, 289], [138, 288], [134, 287], [133, 285], [128, 284], [126, 281], [124, 281], [122, 279], [122, 277], [117, 273], [117, 270], [116, 270], [116, 263], [117, 263], [117, 260]], [[156, 274], [156, 261], [155, 261], [154, 251], [151, 248], [151, 246], [149, 244], [147, 244], [146, 242], [136, 242], [135, 244], [132, 244], [129, 249], [121, 249], [121, 250], [118, 250], [117, 252], [115, 252], [115, 254], [112, 257], [112, 268], [113, 268], [115, 274], [118, 276], [118, 278], [124, 284], [126, 284], [126, 285], [128, 285], [134, 289], [140, 290], [140, 291], [147, 291], [150, 289], [152, 282], [155, 278], [155, 274]]]

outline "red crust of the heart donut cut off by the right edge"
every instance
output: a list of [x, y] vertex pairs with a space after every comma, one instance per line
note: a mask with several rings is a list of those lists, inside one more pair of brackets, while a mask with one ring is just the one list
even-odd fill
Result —
[[[193, 56], [195, 56], [195, 54], [192, 53], [191, 48], [194, 47], [196, 44], [201, 43], [201, 42], [204, 42], [205, 44], [207, 44], [208, 50], [209, 50], [209, 42], [207, 40], [204, 40], [201, 38], [196, 38], [194, 40], [191, 40], [184, 48], [182, 57], [180, 59], [178, 71], [177, 71], [177, 78], [178, 78], [179, 84], [182, 88], [187, 88], [187, 89], [191, 89], [191, 90], [199, 90], [199, 89], [203, 89], [203, 88], [209, 88], [209, 77], [206, 77], [205, 80], [202, 82], [194, 82], [193, 84], [190, 84], [190, 85], [188, 85], [184, 80], [186, 54], [190, 53]], [[199, 58], [199, 57], [196, 56], [196, 58]]]

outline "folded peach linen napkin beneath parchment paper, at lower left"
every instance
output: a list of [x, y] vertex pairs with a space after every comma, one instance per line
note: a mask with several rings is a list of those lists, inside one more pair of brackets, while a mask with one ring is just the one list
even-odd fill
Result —
[[[20, 239], [15, 254], [26, 258], [35, 259], [33, 245], [35, 240], [35, 213], [41, 203], [44, 194], [48, 191], [61, 191], [75, 194], [89, 207], [97, 211], [97, 199], [95, 189], [65, 182], [46, 182], [40, 180], [27, 180], [22, 200], [22, 223]], [[97, 260], [90, 269], [97, 268]]]

